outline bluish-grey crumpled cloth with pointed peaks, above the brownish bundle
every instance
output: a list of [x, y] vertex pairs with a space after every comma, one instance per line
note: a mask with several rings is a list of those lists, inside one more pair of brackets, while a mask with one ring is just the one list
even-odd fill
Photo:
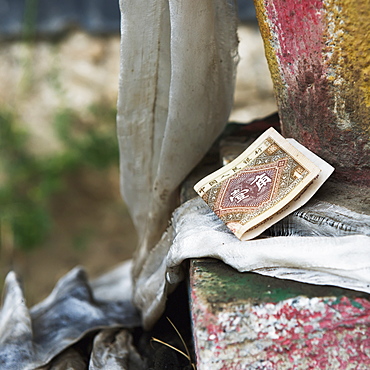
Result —
[[[131, 263], [120, 267], [116, 283], [131, 284]], [[116, 274], [117, 278], [117, 274]], [[104, 285], [109, 281], [109, 285]], [[0, 309], [0, 367], [2, 369], [35, 369], [45, 366], [58, 354], [78, 342], [87, 333], [104, 328], [133, 328], [141, 318], [129, 295], [121, 293], [99, 298], [99, 289], [109, 290], [112, 279], [93, 283], [82, 268], [74, 268], [62, 277], [51, 294], [30, 310], [14, 272], [5, 281], [4, 303]], [[74, 356], [71, 361], [77, 361]]]

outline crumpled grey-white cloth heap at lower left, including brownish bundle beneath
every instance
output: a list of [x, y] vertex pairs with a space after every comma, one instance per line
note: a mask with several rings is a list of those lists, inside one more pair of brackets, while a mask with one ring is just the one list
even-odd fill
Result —
[[[59, 280], [45, 300], [30, 310], [15, 273], [10, 272], [0, 308], [1, 369], [36, 369], [50, 362], [45, 370], [144, 368], [133, 351], [129, 332], [118, 329], [141, 324], [131, 301], [130, 267], [126, 262], [119, 272], [113, 270], [92, 283], [83, 269], [75, 268]], [[115, 288], [123, 286], [129, 289], [114, 295]], [[94, 340], [89, 366], [73, 349], [60, 355], [86, 334], [101, 329], [106, 330]]]

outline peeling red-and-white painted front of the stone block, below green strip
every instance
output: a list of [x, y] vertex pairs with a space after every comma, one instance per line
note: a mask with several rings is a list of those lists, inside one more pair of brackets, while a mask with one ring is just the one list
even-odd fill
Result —
[[199, 284], [208, 278], [191, 272], [198, 370], [370, 369], [368, 296], [353, 292], [278, 302], [225, 297], [216, 303]]

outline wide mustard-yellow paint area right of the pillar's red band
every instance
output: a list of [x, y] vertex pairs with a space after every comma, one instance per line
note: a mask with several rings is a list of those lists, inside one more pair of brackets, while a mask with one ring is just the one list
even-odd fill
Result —
[[[327, 54], [336, 109], [370, 133], [370, 2], [325, 0]], [[342, 112], [341, 112], [342, 111]]]

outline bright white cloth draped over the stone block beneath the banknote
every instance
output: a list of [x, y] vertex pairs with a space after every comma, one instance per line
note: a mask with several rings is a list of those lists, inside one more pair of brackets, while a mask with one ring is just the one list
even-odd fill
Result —
[[[368, 216], [367, 216], [368, 217]], [[201, 198], [180, 206], [172, 225], [147, 256], [134, 302], [144, 327], [162, 314], [167, 294], [183, 278], [182, 262], [214, 257], [238, 271], [370, 293], [370, 237], [281, 236], [240, 241]]]

